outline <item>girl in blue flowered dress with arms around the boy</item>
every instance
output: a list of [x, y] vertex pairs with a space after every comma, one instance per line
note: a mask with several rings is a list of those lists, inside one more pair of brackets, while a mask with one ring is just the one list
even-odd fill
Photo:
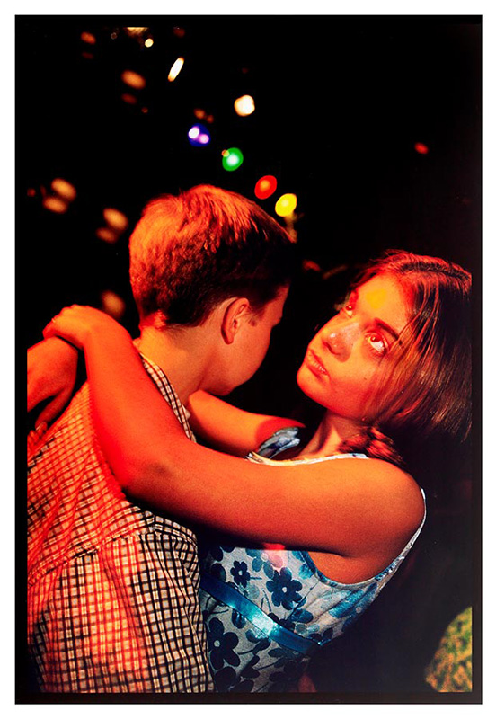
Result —
[[[468, 272], [438, 258], [371, 262], [298, 370], [325, 410], [316, 431], [303, 439], [285, 422], [249, 461], [185, 438], [107, 315], [75, 306], [46, 328], [84, 349], [96, 430], [125, 492], [228, 536], [202, 556], [217, 690], [287, 691], [409, 552], [425, 498], [393, 440], [466, 437], [470, 289]], [[203, 393], [190, 409], [235, 455], [265, 419]]]

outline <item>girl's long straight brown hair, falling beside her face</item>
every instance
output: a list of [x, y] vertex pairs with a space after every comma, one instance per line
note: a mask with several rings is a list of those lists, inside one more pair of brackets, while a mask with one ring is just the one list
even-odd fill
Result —
[[453, 262], [388, 251], [371, 262], [355, 287], [378, 274], [394, 277], [410, 306], [409, 322], [388, 362], [382, 389], [367, 408], [368, 427], [341, 443], [401, 465], [396, 435], [466, 439], [472, 420], [471, 276]]

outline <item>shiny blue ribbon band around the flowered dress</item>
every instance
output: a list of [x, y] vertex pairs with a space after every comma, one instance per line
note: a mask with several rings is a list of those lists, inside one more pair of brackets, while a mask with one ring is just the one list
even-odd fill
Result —
[[286, 629], [286, 627], [280, 626], [250, 599], [246, 599], [234, 587], [218, 580], [217, 577], [213, 577], [211, 574], [202, 574], [199, 586], [202, 590], [211, 594], [212, 597], [226, 604], [227, 607], [243, 615], [268, 639], [273, 639], [287, 649], [300, 654], [313, 654], [319, 648], [319, 644], [311, 639], [306, 639], [306, 637], [297, 635], [295, 632]]

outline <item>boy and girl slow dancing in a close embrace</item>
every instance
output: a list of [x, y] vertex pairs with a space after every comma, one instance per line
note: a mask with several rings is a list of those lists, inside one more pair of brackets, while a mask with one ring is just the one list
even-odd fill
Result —
[[294, 250], [235, 193], [153, 200], [130, 239], [139, 338], [73, 306], [28, 352], [42, 420], [72, 392], [75, 348], [88, 374], [29, 442], [41, 691], [291, 690], [408, 555], [426, 501], [394, 440], [469, 431], [470, 275], [370, 262], [297, 372], [323, 407], [308, 431], [219, 398], [260, 366]]

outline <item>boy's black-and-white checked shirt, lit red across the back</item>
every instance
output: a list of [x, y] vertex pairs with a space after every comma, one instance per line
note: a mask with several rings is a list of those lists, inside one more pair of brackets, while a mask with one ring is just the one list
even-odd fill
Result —
[[[194, 440], [164, 372], [142, 357]], [[41, 691], [213, 689], [196, 537], [120, 491], [88, 385], [28, 450], [28, 643]]]

